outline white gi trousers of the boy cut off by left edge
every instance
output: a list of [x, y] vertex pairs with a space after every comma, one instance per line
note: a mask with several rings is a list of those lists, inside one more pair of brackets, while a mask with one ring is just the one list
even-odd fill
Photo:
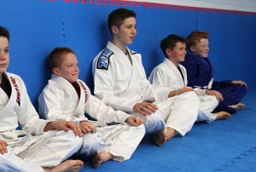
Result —
[[31, 172], [43, 171], [42, 167], [55, 167], [78, 152], [82, 141], [73, 131], [25, 136], [16, 144], [10, 144], [8, 153], [0, 154], [0, 171]]

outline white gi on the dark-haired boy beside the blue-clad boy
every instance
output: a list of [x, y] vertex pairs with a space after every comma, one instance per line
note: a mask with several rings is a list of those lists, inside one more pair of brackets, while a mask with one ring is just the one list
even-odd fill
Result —
[[[160, 65], [154, 67], [148, 80], [155, 86], [168, 87], [171, 90], [187, 87], [188, 78], [186, 68], [180, 64], [178, 66], [180, 67], [182, 74], [171, 60], [165, 58]], [[218, 100], [213, 95], [206, 95], [206, 90], [207, 89], [195, 89], [200, 98], [200, 107], [196, 121], [207, 121], [208, 123], [211, 123], [216, 118], [216, 115], [211, 112], [218, 106]]]

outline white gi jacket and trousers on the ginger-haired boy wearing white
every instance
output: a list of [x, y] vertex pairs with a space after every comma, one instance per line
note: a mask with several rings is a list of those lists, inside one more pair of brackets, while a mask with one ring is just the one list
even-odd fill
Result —
[[[124, 161], [131, 158], [145, 134], [144, 126], [132, 127], [125, 123], [131, 115], [114, 111], [101, 100], [90, 94], [87, 85], [78, 80], [80, 98], [63, 77], [52, 75], [49, 83], [38, 97], [39, 114], [52, 120], [71, 120], [79, 126], [79, 122], [88, 121], [84, 112], [99, 121], [90, 121], [97, 128], [96, 134], [84, 135], [84, 147], [80, 153], [92, 155], [108, 151], [114, 160]], [[107, 126], [105, 123], [123, 123]], [[96, 142], [95, 142], [96, 141]]]

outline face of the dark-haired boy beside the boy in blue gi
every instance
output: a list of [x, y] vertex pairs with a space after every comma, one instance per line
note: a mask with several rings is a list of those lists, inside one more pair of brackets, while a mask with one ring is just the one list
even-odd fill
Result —
[[172, 50], [166, 49], [166, 54], [168, 59], [171, 60], [175, 66], [177, 66], [179, 62], [185, 60], [185, 55], [187, 54], [186, 44], [178, 42]]

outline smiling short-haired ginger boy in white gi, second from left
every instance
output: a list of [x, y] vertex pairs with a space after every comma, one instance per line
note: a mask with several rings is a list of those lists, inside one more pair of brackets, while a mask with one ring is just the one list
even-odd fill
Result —
[[[56, 48], [49, 54], [53, 75], [38, 97], [39, 114], [43, 118], [72, 120], [84, 133], [79, 152], [92, 157], [93, 167], [109, 159], [131, 158], [145, 135], [143, 118], [114, 111], [90, 94], [79, 80], [79, 62], [72, 49]], [[99, 121], [88, 121], [84, 112]], [[107, 126], [105, 123], [123, 123]]]

